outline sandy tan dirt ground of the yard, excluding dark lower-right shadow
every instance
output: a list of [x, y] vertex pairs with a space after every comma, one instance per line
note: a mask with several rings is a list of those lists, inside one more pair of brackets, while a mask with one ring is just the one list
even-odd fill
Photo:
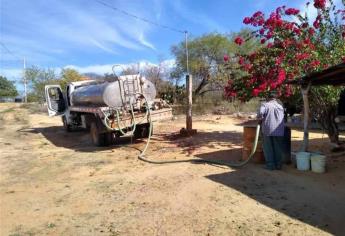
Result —
[[[195, 117], [198, 134], [179, 138], [184, 122], [156, 123], [147, 156], [240, 158], [240, 120]], [[328, 152], [326, 135], [310, 137]], [[297, 149], [302, 132], [292, 138]], [[345, 235], [344, 156], [325, 174], [154, 165], [137, 159], [144, 141], [93, 147], [59, 117], [0, 104], [0, 235]]]

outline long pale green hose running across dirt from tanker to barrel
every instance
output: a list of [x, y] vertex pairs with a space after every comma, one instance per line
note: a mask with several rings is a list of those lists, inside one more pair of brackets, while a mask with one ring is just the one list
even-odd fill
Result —
[[[145, 96], [144, 99], [146, 100]], [[147, 100], [146, 100], [147, 102]], [[252, 151], [248, 157], [247, 160], [239, 163], [234, 163], [234, 162], [227, 162], [227, 161], [216, 161], [216, 160], [205, 160], [205, 159], [185, 159], [185, 160], [164, 160], [164, 161], [155, 161], [155, 160], [150, 160], [145, 158], [145, 152], [150, 144], [151, 136], [152, 136], [152, 120], [151, 120], [151, 110], [148, 107], [148, 120], [150, 123], [150, 128], [149, 128], [149, 135], [146, 141], [146, 145], [143, 149], [143, 151], [140, 153], [138, 156], [139, 160], [151, 163], [151, 164], [173, 164], [173, 163], [181, 163], [181, 162], [199, 162], [199, 163], [209, 163], [209, 164], [216, 164], [216, 165], [223, 165], [223, 166], [229, 166], [229, 167], [242, 167], [246, 165], [254, 156], [256, 152], [256, 148], [258, 146], [258, 140], [259, 140], [259, 135], [260, 135], [260, 125], [258, 124], [256, 126], [256, 133], [255, 133], [255, 139], [253, 143], [253, 148]]]

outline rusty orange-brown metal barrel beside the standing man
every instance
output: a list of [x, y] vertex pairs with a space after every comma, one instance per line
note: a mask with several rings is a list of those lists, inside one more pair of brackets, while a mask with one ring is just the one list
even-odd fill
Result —
[[[250, 153], [252, 152], [254, 140], [256, 134], [256, 125], [246, 125], [243, 127], [243, 149], [242, 149], [242, 160], [247, 160]], [[261, 135], [260, 135], [261, 136]], [[252, 159], [254, 163], [264, 163], [265, 156], [262, 149], [262, 140], [259, 137], [256, 152]]]

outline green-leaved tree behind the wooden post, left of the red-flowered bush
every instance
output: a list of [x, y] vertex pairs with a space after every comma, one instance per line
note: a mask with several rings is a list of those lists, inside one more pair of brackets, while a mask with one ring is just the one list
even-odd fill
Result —
[[[247, 34], [242, 30], [240, 34]], [[243, 48], [233, 43], [234, 35], [211, 33], [192, 38], [188, 42], [189, 69], [193, 75], [194, 95], [202, 95], [209, 91], [223, 90], [227, 76], [223, 70], [224, 55], [238, 52], [250, 52], [257, 47], [255, 39], [250, 39]], [[185, 43], [181, 42], [171, 49], [175, 56], [176, 67], [172, 71], [173, 77], [182, 77], [186, 70]]]

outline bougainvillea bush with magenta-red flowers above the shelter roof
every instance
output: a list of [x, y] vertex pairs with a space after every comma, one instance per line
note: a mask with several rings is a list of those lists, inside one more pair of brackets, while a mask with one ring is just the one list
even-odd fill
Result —
[[[253, 28], [248, 38], [258, 38], [262, 47], [250, 55], [237, 56], [238, 65], [246, 76], [230, 79], [225, 96], [247, 101], [265, 97], [274, 90], [281, 99], [287, 100], [300, 91], [286, 81], [345, 62], [344, 1], [340, 5], [337, 7], [330, 0], [314, 0], [302, 10], [281, 6], [268, 16], [258, 11], [244, 18], [243, 23]], [[316, 16], [308, 16], [306, 12], [311, 12], [310, 8], [316, 9]], [[237, 37], [235, 43], [241, 47], [248, 38]], [[335, 87], [312, 88], [311, 107], [315, 107], [313, 94], [323, 96], [322, 109], [325, 110], [336, 105], [339, 93], [340, 88]], [[317, 115], [322, 113], [320, 109], [317, 112]], [[322, 123], [327, 114], [321, 116], [318, 118]], [[327, 125], [325, 129], [329, 128]]]

